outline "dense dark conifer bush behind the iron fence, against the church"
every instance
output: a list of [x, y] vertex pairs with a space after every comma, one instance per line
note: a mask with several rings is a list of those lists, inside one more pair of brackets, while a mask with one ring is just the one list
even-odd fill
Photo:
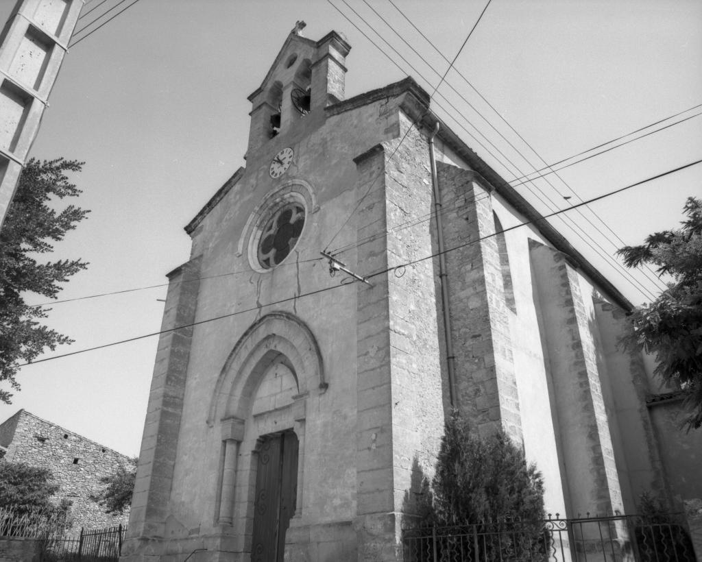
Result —
[[433, 551], [440, 561], [548, 560], [543, 479], [504, 431], [483, 439], [453, 413], [432, 492], [422, 492], [417, 512], [435, 528], [432, 535], [414, 531], [417, 551]]

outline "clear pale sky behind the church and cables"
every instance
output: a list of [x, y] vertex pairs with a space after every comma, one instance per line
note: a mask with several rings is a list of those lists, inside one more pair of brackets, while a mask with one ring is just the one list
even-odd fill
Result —
[[[100, 1], [84, 7], [79, 42], [64, 59], [30, 152], [84, 161], [74, 178], [84, 190], [76, 202], [91, 210], [52, 255], [90, 262], [58, 295], [81, 300], [56, 303], [48, 318], [75, 341], [40, 359], [159, 330], [165, 274], [190, 255], [183, 227], [244, 166], [246, 97], [297, 20], [305, 20], [310, 39], [331, 29], [347, 37], [347, 98], [408, 74], [432, 93], [485, 7], [483, 0], [393, 0], [399, 10], [389, 0], [137, 0], [97, 29], [134, 0]], [[0, 0], [0, 20], [12, 4]], [[508, 181], [669, 116], [680, 113], [656, 128], [689, 118], [564, 168], [564, 182], [554, 174], [551, 185], [542, 179], [517, 187], [549, 213], [702, 159], [702, 107], [690, 110], [702, 104], [701, 69], [697, 0], [491, 0], [432, 105]], [[687, 196], [701, 194], [701, 178], [702, 166], [693, 166], [593, 203], [595, 214], [569, 211], [551, 222], [641, 304], [661, 282], [650, 272], [623, 274], [614, 251], [675, 227]], [[146, 286], [157, 287], [81, 298]], [[12, 404], [0, 404], [0, 421], [25, 408], [138, 455], [157, 341], [23, 367], [22, 389]]]

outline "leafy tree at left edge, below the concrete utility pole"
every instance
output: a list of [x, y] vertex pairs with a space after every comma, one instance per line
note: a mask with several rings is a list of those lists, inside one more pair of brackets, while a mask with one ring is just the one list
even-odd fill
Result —
[[[53, 351], [72, 342], [41, 323], [50, 309], [27, 305], [25, 293], [55, 298], [59, 283], [87, 267], [81, 260], [36, 259], [53, 251], [52, 243], [62, 240], [89, 212], [74, 205], [60, 211], [51, 206], [55, 199], [81, 193], [65, 174], [79, 172], [82, 165], [62, 158], [29, 160], [0, 231], [0, 381], [14, 389], [19, 389], [15, 375], [20, 361], [29, 363], [46, 347]], [[11, 397], [0, 389], [1, 401], [9, 403]]]

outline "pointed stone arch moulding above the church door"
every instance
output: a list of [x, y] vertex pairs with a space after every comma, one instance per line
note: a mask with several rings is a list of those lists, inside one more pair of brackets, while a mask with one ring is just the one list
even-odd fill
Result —
[[246, 330], [220, 371], [210, 402], [207, 424], [225, 417], [245, 419], [260, 377], [273, 363], [284, 363], [298, 386], [298, 395], [324, 392], [322, 354], [310, 328], [288, 312], [266, 314]]

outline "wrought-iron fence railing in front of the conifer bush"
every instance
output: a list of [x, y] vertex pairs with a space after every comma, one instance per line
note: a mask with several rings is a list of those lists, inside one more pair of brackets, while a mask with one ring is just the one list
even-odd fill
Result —
[[682, 514], [407, 529], [404, 562], [696, 562]]

